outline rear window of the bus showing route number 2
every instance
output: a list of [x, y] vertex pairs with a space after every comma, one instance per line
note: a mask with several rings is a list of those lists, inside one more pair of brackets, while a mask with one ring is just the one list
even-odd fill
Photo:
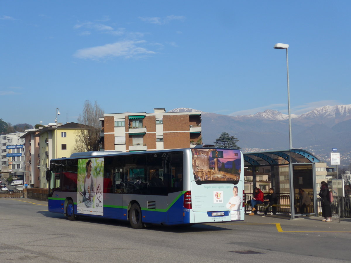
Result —
[[196, 181], [231, 181], [231, 183], [237, 183], [240, 180], [240, 150], [193, 148], [191, 152], [194, 179]]

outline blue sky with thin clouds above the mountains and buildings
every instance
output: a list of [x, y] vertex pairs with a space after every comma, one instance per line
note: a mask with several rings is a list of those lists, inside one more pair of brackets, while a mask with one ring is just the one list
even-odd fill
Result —
[[350, 101], [350, 1], [0, 2], [1, 115], [179, 107], [287, 114]]

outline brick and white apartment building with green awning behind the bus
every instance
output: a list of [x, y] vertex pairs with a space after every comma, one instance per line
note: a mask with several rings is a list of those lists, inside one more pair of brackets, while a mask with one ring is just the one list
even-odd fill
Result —
[[201, 144], [201, 112], [104, 114], [101, 149], [150, 151], [194, 147]]

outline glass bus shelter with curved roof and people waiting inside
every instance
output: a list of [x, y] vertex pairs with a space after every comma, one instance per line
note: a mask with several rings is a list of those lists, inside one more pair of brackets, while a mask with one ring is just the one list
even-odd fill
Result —
[[293, 219], [302, 215], [299, 209], [299, 188], [302, 188], [312, 201], [307, 214], [317, 216], [318, 162], [316, 156], [302, 149], [244, 153], [245, 187], [252, 186], [245, 192], [249, 190], [253, 193], [253, 189], [258, 187], [268, 193], [270, 187], [274, 188], [278, 196], [277, 211], [290, 214]]

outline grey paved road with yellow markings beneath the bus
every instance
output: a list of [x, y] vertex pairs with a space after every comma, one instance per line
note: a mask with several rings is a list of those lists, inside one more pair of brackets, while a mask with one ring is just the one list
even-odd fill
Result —
[[47, 202], [25, 198], [1, 198], [0, 209], [0, 262], [350, 261], [350, 221], [246, 216], [243, 222], [136, 230], [100, 218], [68, 221], [49, 213]]

